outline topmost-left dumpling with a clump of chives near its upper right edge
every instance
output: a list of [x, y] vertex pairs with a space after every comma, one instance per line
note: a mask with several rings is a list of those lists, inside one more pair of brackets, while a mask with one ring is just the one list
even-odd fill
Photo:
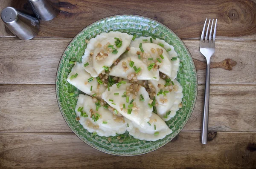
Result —
[[83, 64], [88, 64], [84, 69], [97, 77], [105, 69], [110, 67], [115, 60], [125, 52], [130, 45], [133, 36], [121, 32], [103, 32], [90, 39], [82, 57]]

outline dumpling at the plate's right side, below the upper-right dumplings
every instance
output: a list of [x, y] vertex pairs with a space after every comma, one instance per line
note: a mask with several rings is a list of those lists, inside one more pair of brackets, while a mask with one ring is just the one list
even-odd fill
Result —
[[[172, 85], [172, 82], [174, 85]], [[157, 115], [159, 115], [164, 121], [170, 120], [172, 117], [176, 115], [176, 112], [182, 106], [182, 86], [177, 80], [169, 82], [169, 86], [164, 87], [166, 81], [160, 78], [159, 81], [156, 80], [148, 80], [148, 86], [151, 92], [155, 92], [156, 96], [156, 106]], [[162, 89], [162, 93], [160, 94]], [[170, 92], [172, 91], [172, 92]], [[159, 94], [158, 94], [159, 93]], [[153, 95], [150, 95], [151, 99], [153, 99]], [[170, 111], [170, 112], [169, 112]]]

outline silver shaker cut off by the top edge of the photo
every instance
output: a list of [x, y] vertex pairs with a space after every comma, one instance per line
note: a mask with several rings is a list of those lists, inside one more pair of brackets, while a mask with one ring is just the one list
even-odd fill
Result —
[[52, 20], [58, 14], [58, 10], [53, 9], [47, 0], [29, 0], [29, 3], [40, 20]]

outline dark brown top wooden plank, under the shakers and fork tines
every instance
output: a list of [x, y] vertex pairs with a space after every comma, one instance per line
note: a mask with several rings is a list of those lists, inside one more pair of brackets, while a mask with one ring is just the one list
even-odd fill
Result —
[[[0, 9], [6, 4], [30, 9], [26, 0], [4, 1], [0, 0]], [[199, 39], [205, 18], [218, 18], [217, 38], [256, 38], [256, 3], [251, 0], [61, 0], [60, 6], [51, 1], [60, 13], [54, 20], [40, 22], [38, 37], [70, 38], [104, 17], [137, 14], [163, 23], [182, 39]], [[0, 37], [10, 36], [3, 26], [0, 28]]]

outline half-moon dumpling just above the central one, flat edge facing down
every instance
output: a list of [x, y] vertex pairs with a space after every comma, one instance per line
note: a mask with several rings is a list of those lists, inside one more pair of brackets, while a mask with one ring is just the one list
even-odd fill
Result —
[[[134, 62], [133, 66], [129, 65], [130, 62]], [[141, 69], [138, 73], [135, 73], [136, 69]], [[126, 57], [119, 61], [116, 66], [113, 66], [109, 75], [121, 77], [123, 79], [131, 80], [131, 74], [136, 76], [137, 80], [159, 80], [159, 70], [148, 70], [148, 65], [144, 63], [138, 57]]]

